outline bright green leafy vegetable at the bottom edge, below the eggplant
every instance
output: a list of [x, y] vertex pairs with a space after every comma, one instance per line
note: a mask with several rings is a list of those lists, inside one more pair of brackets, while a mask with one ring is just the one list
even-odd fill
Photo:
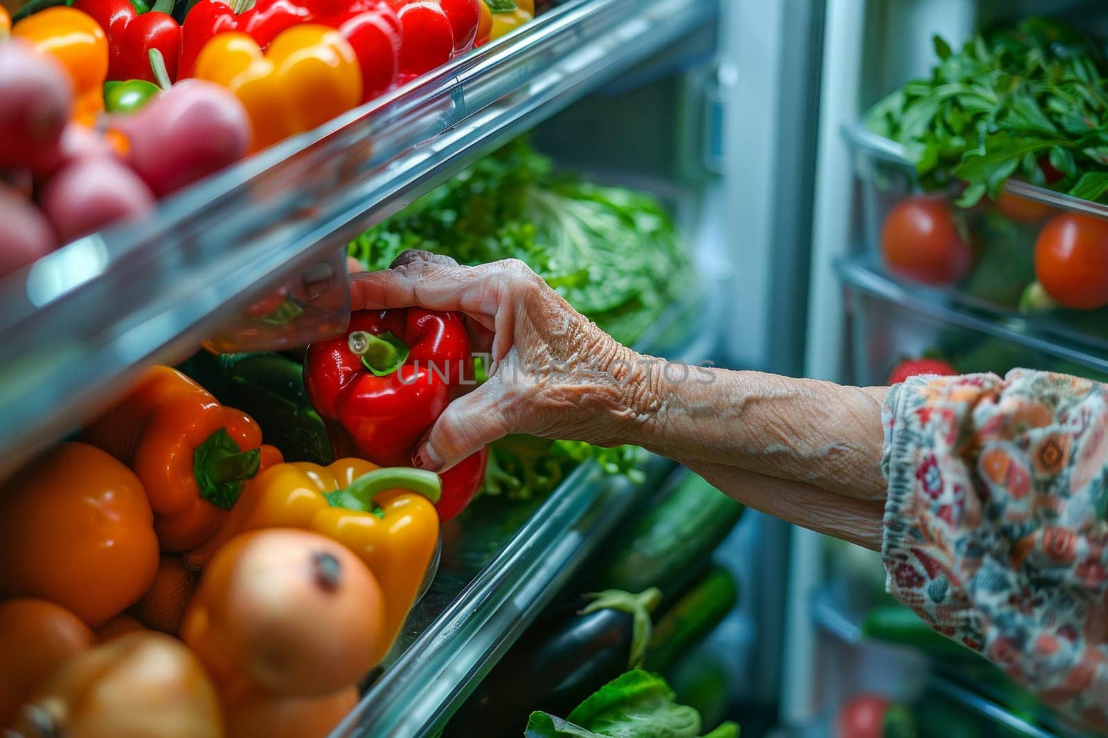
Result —
[[[566, 719], [532, 713], [526, 738], [697, 738], [700, 730], [700, 714], [675, 704], [660, 676], [634, 671], [601, 687]], [[705, 738], [738, 735], [737, 725], [725, 723]]]

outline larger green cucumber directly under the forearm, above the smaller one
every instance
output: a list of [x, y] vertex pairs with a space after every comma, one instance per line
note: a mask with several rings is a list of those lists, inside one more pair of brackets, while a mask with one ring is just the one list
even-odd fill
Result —
[[595, 589], [677, 595], [742, 516], [743, 506], [689, 472], [660, 502], [632, 520], [593, 570]]

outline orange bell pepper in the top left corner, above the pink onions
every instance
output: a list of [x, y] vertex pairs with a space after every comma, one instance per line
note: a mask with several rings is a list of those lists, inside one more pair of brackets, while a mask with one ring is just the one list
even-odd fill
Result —
[[73, 80], [73, 119], [85, 125], [104, 110], [107, 37], [88, 13], [59, 6], [28, 15], [11, 29], [37, 51], [61, 62]]

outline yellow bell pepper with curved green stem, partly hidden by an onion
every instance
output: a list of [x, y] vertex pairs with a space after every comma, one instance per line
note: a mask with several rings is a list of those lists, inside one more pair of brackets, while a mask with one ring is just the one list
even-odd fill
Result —
[[346, 458], [324, 467], [278, 464], [247, 481], [206, 559], [225, 541], [258, 528], [300, 528], [353, 551], [384, 592], [384, 658], [419, 594], [439, 545], [439, 476]]

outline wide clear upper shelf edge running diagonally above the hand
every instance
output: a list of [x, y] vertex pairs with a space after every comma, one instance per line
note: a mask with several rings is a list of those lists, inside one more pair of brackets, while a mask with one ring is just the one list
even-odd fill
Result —
[[[283, 274], [718, 11], [577, 0], [0, 283], [0, 475]], [[176, 356], [175, 356], [176, 355]]]

